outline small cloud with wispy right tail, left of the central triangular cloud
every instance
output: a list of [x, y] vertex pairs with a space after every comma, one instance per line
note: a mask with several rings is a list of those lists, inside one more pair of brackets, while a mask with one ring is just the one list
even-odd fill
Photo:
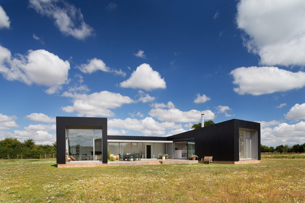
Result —
[[88, 60], [87, 64], [81, 64], [80, 66], [77, 66], [76, 68], [78, 68], [83, 73], [89, 73], [89, 74], [92, 74], [93, 72], [101, 70], [104, 72], [113, 73], [115, 75], [122, 75], [123, 77], [126, 76], [126, 73], [124, 71], [122, 71], [121, 69], [120, 70], [111, 69], [108, 66], [106, 66], [106, 64], [102, 60], [97, 59], [97, 58]]

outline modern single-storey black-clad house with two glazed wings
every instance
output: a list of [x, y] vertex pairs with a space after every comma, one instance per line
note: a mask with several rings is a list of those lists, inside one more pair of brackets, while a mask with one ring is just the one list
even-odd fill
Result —
[[213, 163], [259, 163], [260, 123], [232, 119], [169, 137], [107, 135], [107, 118], [56, 117], [57, 163], [66, 163], [66, 153], [78, 160], [107, 163], [111, 154], [141, 153], [144, 159], [157, 159], [168, 153], [170, 159], [198, 160], [213, 156]]

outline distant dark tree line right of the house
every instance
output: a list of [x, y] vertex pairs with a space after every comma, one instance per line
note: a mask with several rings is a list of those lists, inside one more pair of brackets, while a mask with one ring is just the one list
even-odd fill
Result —
[[277, 147], [268, 147], [266, 145], [262, 145], [261, 144], [261, 152], [284, 152], [284, 153], [288, 153], [288, 152], [295, 152], [295, 153], [303, 153], [305, 152], [305, 143], [303, 145], [300, 144], [296, 144], [293, 146], [289, 146], [289, 145], [279, 145]]

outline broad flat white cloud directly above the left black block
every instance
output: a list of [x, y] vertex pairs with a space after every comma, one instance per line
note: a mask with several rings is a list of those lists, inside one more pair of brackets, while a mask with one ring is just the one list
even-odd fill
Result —
[[128, 96], [108, 91], [95, 92], [89, 95], [64, 92], [62, 96], [73, 98], [73, 105], [62, 107], [63, 111], [67, 113], [76, 111], [78, 116], [86, 115], [87, 117], [112, 117], [115, 114], [109, 109], [115, 109], [123, 104], [134, 102]]

